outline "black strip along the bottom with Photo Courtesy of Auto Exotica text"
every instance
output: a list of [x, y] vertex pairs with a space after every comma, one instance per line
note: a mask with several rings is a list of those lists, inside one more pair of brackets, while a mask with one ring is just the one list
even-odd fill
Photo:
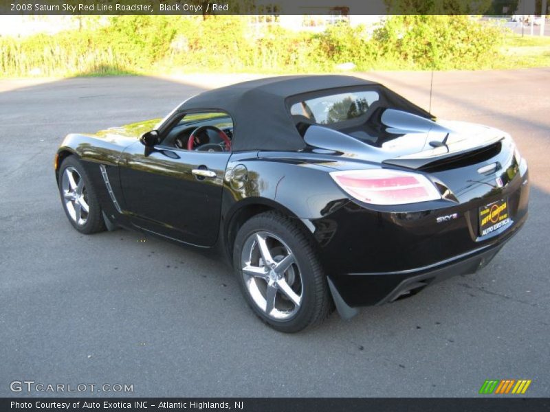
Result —
[[548, 398], [1, 398], [1, 411], [548, 411]]

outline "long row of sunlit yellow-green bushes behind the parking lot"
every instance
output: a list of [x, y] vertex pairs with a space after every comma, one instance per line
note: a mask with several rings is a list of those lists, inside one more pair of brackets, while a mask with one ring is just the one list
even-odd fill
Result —
[[[179, 71], [322, 72], [492, 67], [503, 34], [467, 16], [391, 16], [369, 34], [294, 32], [245, 16], [113, 16], [82, 30], [0, 37], [3, 76]], [[94, 23], [94, 22], [92, 22]], [[90, 28], [94, 27], [94, 28]]]

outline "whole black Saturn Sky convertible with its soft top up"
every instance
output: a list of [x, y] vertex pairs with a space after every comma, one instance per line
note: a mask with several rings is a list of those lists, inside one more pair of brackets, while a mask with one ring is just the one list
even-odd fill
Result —
[[359, 78], [244, 82], [155, 123], [65, 137], [69, 221], [221, 251], [283, 332], [474, 273], [527, 218], [527, 162], [507, 133]]

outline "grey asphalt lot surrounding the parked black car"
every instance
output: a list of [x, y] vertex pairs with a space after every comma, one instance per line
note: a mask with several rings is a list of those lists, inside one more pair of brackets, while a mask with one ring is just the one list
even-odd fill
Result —
[[[430, 106], [429, 72], [362, 76]], [[72, 229], [53, 170], [64, 135], [163, 117], [247, 77], [0, 81], [0, 396], [28, 396], [10, 382], [32, 380], [133, 385], [87, 396], [469, 397], [505, 378], [549, 396], [550, 68], [434, 73], [432, 113], [516, 139], [529, 220], [479, 273], [351, 321], [281, 334], [218, 260], [131, 231]]]

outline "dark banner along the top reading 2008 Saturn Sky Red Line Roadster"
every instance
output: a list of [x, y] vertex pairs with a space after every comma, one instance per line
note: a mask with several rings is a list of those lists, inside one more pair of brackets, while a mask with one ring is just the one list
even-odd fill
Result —
[[[523, 3], [534, 8], [535, 0]], [[509, 15], [517, 7], [517, 0], [0, 0], [0, 14], [12, 15]]]

